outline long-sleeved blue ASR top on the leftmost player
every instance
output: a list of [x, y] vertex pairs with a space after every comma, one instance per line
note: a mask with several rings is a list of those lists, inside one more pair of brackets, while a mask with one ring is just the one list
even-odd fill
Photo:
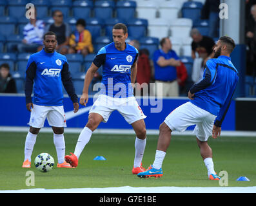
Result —
[[62, 83], [72, 102], [78, 102], [64, 55], [57, 52], [46, 53], [44, 49], [30, 55], [26, 66], [26, 104], [33, 102], [41, 106], [63, 106]]

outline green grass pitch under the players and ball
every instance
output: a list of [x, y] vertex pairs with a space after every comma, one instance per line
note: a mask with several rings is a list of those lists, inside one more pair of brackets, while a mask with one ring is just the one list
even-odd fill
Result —
[[[66, 154], [74, 152], [79, 134], [65, 134]], [[220, 187], [219, 182], [208, 180], [195, 136], [172, 136], [162, 169], [162, 178], [141, 179], [132, 174], [134, 135], [92, 135], [75, 169], [57, 168], [57, 154], [52, 133], [39, 133], [32, 153], [31, 169], [22, 168], [26, 133], [0, 133], [0, 190], [10, 189], [68, 189], [83, 187]], [[228, 171], [228, 186], [256, 185], [256, 138], [225, 137], [209, 139], [217, 174]], [[143, 158], [144, 167], [153, 164], [157, 136], [149, 135]], [[49, 173], [35, 169], [37, 154], [49, 153], [55, 166]], [[105, 161], [93, 160], [104, 156]], [[26, 186], [26, 171], [34, 171], [35, 186]], [[237, 182], [246, 176], [250, 182]], [[145, 191], [146, 192], [146, 191]]]

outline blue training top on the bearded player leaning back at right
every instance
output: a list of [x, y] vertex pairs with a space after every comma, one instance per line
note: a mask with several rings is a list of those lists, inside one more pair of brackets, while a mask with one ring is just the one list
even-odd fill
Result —
[[230, 57], [219, 56], [206, 62], [201, 82], [194, 84], [190, 92], [195, 98], [190, 100], [199, 108], [216, 115], [215, 126], [221, 126], [230, 106], [239, 75]]

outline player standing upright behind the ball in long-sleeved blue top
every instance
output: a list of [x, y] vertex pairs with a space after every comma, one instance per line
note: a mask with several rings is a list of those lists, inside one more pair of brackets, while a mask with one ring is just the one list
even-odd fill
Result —
[[[74, 113], [79, 109], [78, 98], [75, 94], [72, 77], [68, 69], [68, 62], [64, 55], [55, 52], [57, 45], [54, 32], [47, 32], [43, 39], [44, 48], [41, 52], [30, 55], [26, 66], [26, 109], [31, 112], [30, 129], [25, 142], [25, 160], [23, 166], [30, 168], [31, 154], [37, 134], [44, 126], [45, 118], [54, 131], [54, 145], [56, 147], [57, 167], [72, 168], [65, 162], [64, 127], [66, 119], [63, 109], [63, 89], [66, 89], [74, 104]], [[34, 85], [34, 97], [31, 98]]]

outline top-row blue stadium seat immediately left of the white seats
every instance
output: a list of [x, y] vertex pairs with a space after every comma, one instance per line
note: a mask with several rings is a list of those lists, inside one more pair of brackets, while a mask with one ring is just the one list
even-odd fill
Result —
[[117, 1], [116, 12], [119, 19], [133, 19], [135, 17], [135, 1]]

